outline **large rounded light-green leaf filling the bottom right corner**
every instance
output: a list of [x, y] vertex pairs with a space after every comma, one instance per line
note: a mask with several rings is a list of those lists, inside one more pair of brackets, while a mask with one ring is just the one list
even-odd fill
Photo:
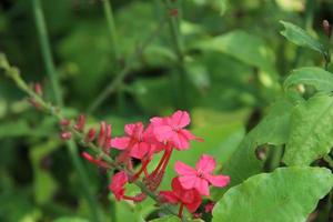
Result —
[[306, 221], [332, 185], [327, 169], [280, 168], [230, 189], [216, 203], [212, 221]]

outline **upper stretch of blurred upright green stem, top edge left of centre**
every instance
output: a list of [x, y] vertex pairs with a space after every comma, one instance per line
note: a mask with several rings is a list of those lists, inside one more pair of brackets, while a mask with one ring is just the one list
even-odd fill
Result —
[[118, 34], [117, 34], [118, 32], [117, 32], [117, 28], [115, 28], [111, 0], [102, 0], [102, 2], [103, 2], [105, 19], [107, 19], [107, 22], [108, 22], [108, 29], [109, 29], [109, 32], [110, 32], [112, 50], [113, 50], [113, 53], [114, 53], [114, 61], [115, 61], [115, 63], [118, 63], [118, 61], [120, 59], [119, 42], [118, 42]]

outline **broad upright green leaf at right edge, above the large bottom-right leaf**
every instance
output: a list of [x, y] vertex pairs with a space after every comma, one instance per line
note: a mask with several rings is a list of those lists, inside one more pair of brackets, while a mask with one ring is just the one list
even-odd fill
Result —
[[329, 153], [333, 145], [333, 97], [317, 94], [292, 111], [291, 132], [283, 161], [309, 165]]

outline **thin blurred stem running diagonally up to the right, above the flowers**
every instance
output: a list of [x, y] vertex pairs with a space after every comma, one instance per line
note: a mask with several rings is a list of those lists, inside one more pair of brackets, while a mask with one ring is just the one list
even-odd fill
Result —
[[112, 94], [119, 85], [122, 84], [124, 78], [130, 73], [132, 70], [133, 64], [135, 63], [137, 59], [142, 56], [143, 51], [145, 48], [152, 42], [152, 40], [159, 36], [161, 32], [162, 28], [164, 27], [165, 20], [162, 20], [159, 26], [155, 28], [155, 30], [147, 38], [147, 40], [138, 47], [133, 54], [129, 57], [125, 67], [123, 70], [120, 71], [119, 74], [117, 74], [115, 79], [107, 85], [107, 88], [97, 97], [97, 99], [91, 103], [91, 105], [88, 108], [87, 113], [91, 113], [94, 110], [97, 110], [103, 102], [104, 100]]

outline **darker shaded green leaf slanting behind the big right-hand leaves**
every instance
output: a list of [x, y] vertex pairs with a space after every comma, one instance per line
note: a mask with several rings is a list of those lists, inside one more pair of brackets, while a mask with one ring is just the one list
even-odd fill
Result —
[[[287, 141], [291, 109], [293, 104], [281, 99], [274, 103], [268, 115], [243, 139], [242, 143], [223, 165], [223, 174], [232, 178], [230, 186], [241, 183], [262, 171], [263, 161], [255, 157], [255, 149], [262, 144], [280, 145]], [[223, 190], [220, 195], [223, 194]]]

